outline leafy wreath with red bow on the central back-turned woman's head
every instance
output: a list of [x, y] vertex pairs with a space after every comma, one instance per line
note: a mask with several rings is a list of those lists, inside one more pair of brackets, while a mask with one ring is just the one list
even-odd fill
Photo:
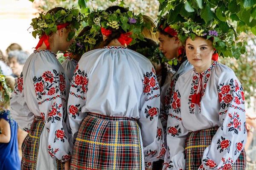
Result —
[[120, 9], [117, 9], [113, 13], [98, 10], [91, 12], [87, 16], [86, 21], [89, 26], [92, 26], [91, 32], [97, 33], [101, 31], [106, 36], [112, 33], [111, 29], [117, 30], [122, 28], [126, 32], [125, 34], [121, 34], [118, 39], [122, 45], [133, 45], [138, 39], [144, 39], [141, 34], [145, 27], [142, 14], [134, 15], [132, 11], [121, 13]]

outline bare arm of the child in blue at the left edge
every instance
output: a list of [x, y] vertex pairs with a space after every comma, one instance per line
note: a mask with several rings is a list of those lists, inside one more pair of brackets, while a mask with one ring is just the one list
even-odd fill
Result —
[[11, 127], [5, 119], [0, 119], [0, 143], [9, 143], [11, 140]]

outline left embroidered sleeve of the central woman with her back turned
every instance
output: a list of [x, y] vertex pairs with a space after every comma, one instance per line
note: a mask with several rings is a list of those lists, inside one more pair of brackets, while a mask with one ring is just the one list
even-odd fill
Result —
[[76, 66], [74, 76], [70, 83], [70, 94], [68, 99], [68, 118], [70, 122], [72, 141], [79, 130], [81, 121], [86, 116], [86, 113], [81, 113], [81, 107], [86, 102], [88, 78], [85, 71]]

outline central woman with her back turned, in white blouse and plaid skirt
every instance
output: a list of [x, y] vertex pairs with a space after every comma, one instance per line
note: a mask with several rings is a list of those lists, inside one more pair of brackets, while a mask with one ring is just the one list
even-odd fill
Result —
[[71, 81], [71, 170], [144, 170], [163, 155], [160, 91], [153, 65], [125, 47], [133, 40], [131, 30], [124, 31], [121, 20], [111, 20], [130, 17], [125, 24], [142, 28], [137, 22], [141, 15], [131, 14], [112, 6], [91, 19], [102, 27], [107, 46], [85, 53]]

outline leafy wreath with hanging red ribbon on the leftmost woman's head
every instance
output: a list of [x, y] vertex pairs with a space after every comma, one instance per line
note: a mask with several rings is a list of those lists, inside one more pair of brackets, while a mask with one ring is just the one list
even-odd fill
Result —
[[44, 42], [47, 49], [49, 49], [49, 35], [67, 26], [71, 28], [67, 37], [67, 41], [70, 41], [75, 36], [76, 30], [79, 29], [83, 20], [84, 15], [79, 12], [79, 9], [75, 8], [64, 8], [51, 14], [40, 13], [39, 17], [33, 18], [30, 24], [34, 29], [34, 31], [32, 31], [33, 37], [36, 38], [37, 35], [40, 37], [40, 41], [35, 48], [39, 48]]

